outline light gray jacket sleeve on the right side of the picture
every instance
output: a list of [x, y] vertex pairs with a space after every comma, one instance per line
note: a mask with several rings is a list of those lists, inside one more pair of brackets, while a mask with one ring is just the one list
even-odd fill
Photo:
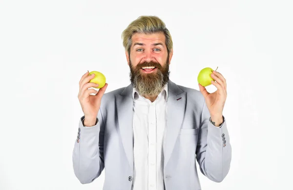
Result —
[[227, 122], [216, 127], [210, 122], [210, 114], [204, 101], [198, 134], [196, 159], [200, 171], [214, 182], [221, 182], [230, 170], [231, 145]]

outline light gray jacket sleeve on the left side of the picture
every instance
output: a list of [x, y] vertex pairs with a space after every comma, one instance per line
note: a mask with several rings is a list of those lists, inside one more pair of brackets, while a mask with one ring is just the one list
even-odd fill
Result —
[[80, 118], [78, 135], [75, 140], [72, 162], [75, 176], [82, 184], [91, 183], [104, 170], [105, 126], [99, 111], [96, 125], [86, 127], [84, 116]]

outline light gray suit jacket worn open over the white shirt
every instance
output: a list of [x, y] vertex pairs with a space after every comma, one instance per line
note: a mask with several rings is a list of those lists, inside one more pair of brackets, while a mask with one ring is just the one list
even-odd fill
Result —
[[[91, 183], [105, 168], [103, 190], [131, 190], [133, 181], [133, 98], [129, 85], [105, 93], [97, 123], [79, 132], [72, 155], [76, 177]], [[168, 81], [167, 133], [164, 152], [166, 190], [200, 190], [196, 160], [210, 180], [221, 182], [230, 169], [231, 146], [226, 119], [210, 122], [200, 91]]]

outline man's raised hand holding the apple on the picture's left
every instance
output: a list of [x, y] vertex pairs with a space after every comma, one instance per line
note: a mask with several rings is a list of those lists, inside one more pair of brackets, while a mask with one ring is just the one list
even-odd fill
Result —
[[[99, 91], [95, 89], [88, 89], [91, 87], [97, 88], [99, 86], [99, 84], [89, 82], [94, 77], [94, 74], [89, 76], [89, 73], [86, 72], [79, 82], [80, 88], [78, 99], [84, 112], [84, 126], [88, 127], [94, 126], [96, 123], [98, 112], [101, 106], [101, 99], [108, 86], [108, 84], [105, 83], [105, 86], [100, 88]], [[90, 95], [92, 93], [97, 94]]]

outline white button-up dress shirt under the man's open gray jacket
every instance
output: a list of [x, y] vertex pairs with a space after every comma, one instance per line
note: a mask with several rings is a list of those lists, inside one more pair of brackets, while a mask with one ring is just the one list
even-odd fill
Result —
[[154, 102], [133, 89], [132, 190], [165, 190], [164, 139], [167, 124], [167, 84]]

